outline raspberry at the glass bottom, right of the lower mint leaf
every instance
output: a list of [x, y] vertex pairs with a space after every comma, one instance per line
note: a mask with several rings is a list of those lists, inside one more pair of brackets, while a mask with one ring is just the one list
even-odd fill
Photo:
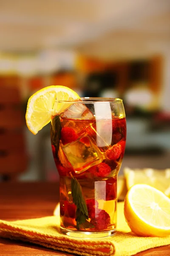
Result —
[[96, 217], [92, 218], [90, 223], [94, 226], [94, 230], [101, 231], [108, 228], [108, 225], [111, 224], [111, 218], [105, 210], [98, 209]]

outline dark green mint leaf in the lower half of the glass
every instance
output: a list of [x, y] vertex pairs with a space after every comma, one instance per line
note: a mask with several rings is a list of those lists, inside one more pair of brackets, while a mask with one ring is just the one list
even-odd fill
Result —
[[[88, 228], [86, 222], [88, 222], [88, 208], [85, 198], [82, 194], [82, 187], [78, 180], [71, 175], [71, 194], [73, 197], [74, 204], [77, 206], [76, 211], [76, 222], [77, 229]], [[86, 224], [86, 225], [85, 225]], [[88, 222], [89, 224], [89, 222]]]

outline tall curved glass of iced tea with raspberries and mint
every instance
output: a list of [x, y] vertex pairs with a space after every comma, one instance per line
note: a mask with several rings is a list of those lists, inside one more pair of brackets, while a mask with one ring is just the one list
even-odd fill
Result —
[[116, 233], [117, 175], [126, 143], [122, 99], [82, 98], [56, 106], [63, 106], [63, 113], [51, 121], [61, 232], [111, 236]]

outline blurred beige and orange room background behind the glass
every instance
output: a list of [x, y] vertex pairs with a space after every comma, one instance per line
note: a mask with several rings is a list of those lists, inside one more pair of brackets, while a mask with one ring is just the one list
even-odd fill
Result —
[[58, 180], [49, 125], [26, 127], [49, 85], [120, 97], [123, 168], [170, 168], [169, 0], [0, 0], [0, 180]]

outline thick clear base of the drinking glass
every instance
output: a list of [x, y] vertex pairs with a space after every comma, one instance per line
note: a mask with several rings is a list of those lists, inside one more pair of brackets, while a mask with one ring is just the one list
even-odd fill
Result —
[[113, 236], [116, 234], [116, 229], [109, 231], [100, 231], [100, 232], [82, 232], [82, 231], [73, 231], [66, 228], [60, 227], [61, 233], [74, 237], [74, 238], [86, 238], [86, 239], [97, 239], [104, 238], [108, 236]]

